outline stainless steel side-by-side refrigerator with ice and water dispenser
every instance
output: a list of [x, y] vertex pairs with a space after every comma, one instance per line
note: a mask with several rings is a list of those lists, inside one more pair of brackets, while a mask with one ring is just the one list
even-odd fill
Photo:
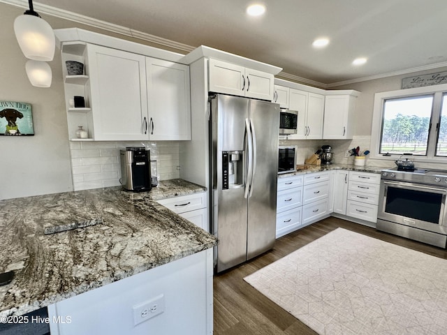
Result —
[[279, 105], [221, 94], [210, 103], [211, 228], [220, 272], [274, 246]]

